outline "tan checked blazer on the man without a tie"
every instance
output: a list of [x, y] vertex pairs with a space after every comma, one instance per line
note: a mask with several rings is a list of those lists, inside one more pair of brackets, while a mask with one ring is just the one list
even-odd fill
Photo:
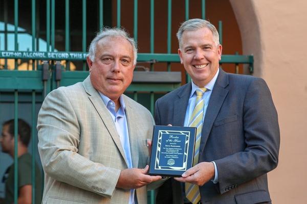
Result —
[[[123, 95], [133, 167], [147, 164], [150, 112]], [[115, 124], [90, 78], [52, 91], [38, 115], [38, 150], [45, 171], [42, 203], [128, 203], [129, 190], [116, 188], [127, 168]], [[147, 203], [147, 187], [136, 190]]]

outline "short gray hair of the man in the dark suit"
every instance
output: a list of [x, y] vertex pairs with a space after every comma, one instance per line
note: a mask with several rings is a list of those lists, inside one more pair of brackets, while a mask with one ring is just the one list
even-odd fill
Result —
[[211, 24], [208, 20], [203, 20], [203, 19], [200, 19], [200, 18], [193, 18], [193, 19], [189, 19], [187, 21], [184, 21], [180, 25], [180, 28], [177, 32], [179, 47], [181, 47], [181, 40], [182, 40], [182, 35], [183, 35], [184, 31], [196, 31], [196, 30], [199, 30], [199, 29], [202, 29], [202, 28], [207, 28], [212, 32], [213, 41], [214, 41], [216, 46], [220, 44], [218, 32], [217, 32], [217, 30], [216, 30], [216, 28], [214, 27], [213, 24]]

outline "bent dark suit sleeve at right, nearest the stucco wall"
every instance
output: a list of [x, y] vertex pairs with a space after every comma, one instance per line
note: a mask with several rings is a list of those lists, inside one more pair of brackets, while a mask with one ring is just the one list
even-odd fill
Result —
[[279, 125], [266, 82], [256, 78], [248, 85], [243, 105], [243, 136], [246, 148], [214, 161], [221, 193], [276, 168], [279, 151]]

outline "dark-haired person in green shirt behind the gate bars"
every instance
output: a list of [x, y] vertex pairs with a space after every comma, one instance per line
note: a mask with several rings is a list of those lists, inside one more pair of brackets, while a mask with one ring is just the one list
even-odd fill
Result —
[[[14, 119], [2, 125], [0, 143], [2, 151], [14, 158]], [[28, 152], [31, 128], [23, 119], [18, 119], [18, 204], [32, 203], [32, 156]], [[13, 163], [5, 172], [2, 181], [5, 182], [5, 198], [3, 203], [14, 203], [14, 170]], [[42, 177], [35, 162], [35, 203], [41, 202]]]

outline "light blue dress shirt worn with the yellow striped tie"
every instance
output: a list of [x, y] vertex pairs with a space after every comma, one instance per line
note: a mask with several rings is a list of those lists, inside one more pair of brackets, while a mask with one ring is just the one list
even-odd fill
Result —
[[[205, 86], [205, 88], [207, 89], [207, 91], [203, 94], [203, 99], [204, 99], [204, 116], [203, 116], [203, 121], [204, 121], [204, 118], [205, 118], [205, 115], [206, 115], [206, 111], [207, 111], [207, 107], [208, 107], [208, 104], [209, 104], [209, 99], [210, 99], [210, 96], [211, 96], [211, 93], [212, 93], [212, 89], [214, 87], [214, 84], [216, 82], [216, 79], [217, 79], [217, 75], [218, 75], [218, 72], [220, 70], [217, 69], [217, 72], [216, 74], [214, 75], [214, 77], [212, 78], [212, 80]], [[190, 121], [190, 117], [193, 113], [193, 110], [194, 110], [194, 107], [195, 107], [195, 101], [196, 101], [196, 89], [199, 89], [200, 87], [196, 86], [193, 81], [191, 82], [192, 84], [192, 90], [191, 90], [191, 95], [190, 95], [190, 98], [189, 98], [189, 102], [188, 102], [188, 107], [187, 107], [187, 110], [186, 110], [186, 115], [185, 115], [185, 118], [184, 118], [184, 126], [189, 126], [189, 121]], [[216, 184], [218, 182], [218, 172], [217, 172], [217, 168], [216, 168], [216, 164], [215, 162], [213, 162], [214, 164], [214, 170], [215, 170], [215, 175], [214, 175], [214, 180], [213, 180], [213, 183]]]

